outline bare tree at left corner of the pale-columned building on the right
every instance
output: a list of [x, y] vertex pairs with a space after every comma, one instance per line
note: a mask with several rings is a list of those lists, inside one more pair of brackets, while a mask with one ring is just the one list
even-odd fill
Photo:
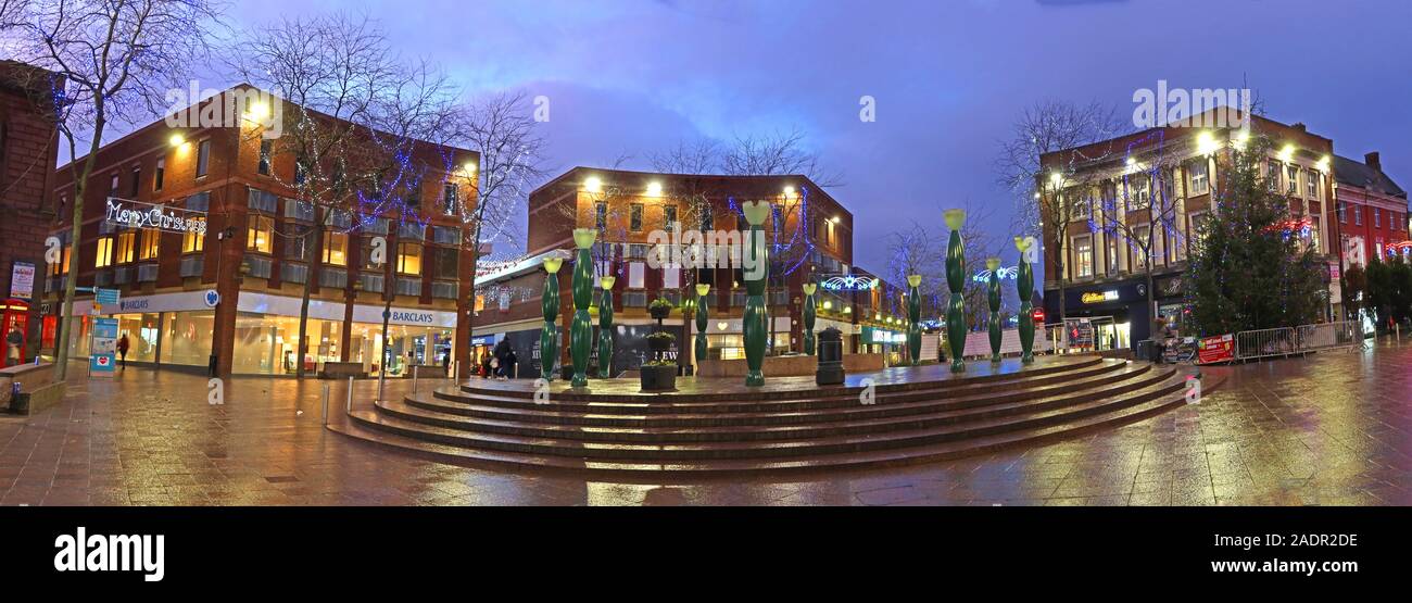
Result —
[[[1128, 130], [1115, 107], [1097, 102], [1075, 105], [1066, 100], [1041, 100], [1025, 109], [1012, 127], [1010, 140], [1001, 141], [995, 157], [997, 182], [1015, 195], [1011, 230], [1039, 237], [1055, 257], [1056, 274], [1045, 274], [1059, 282], [1059, 318], [1065, 316], [1063, 243], [1070, 223], [1062, 191], [1075, 185], [1075, 171], [1065, 165], [1045, 172], [1041, 157], [1073, 150], [1113, 138]], [[1107, 150], [1097, 155], [1106, 157]], [[1073, 157], [1082, 161], [1084, 157]], [[1042, 226], [1049, 226], [1045, 230]], [[1049, 233], [1048, 240], [1045, 233]]]

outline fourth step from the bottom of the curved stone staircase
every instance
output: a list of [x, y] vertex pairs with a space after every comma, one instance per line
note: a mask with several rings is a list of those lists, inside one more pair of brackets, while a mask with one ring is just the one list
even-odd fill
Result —
[[[1038, 401], [1045, 397], [1069, 395], [1099, 395], [1108, 388], [1132, 388], [1134, 380], [1139, 380], [1152, 371], [1151, 364], [1123, 367], [1118, 371], [1108, 371], [1084, 380], [1063, 384], [1027, 388], [1005, 393], [976, 394], [963, 398], [943, 400], [897, 400], [882, 397], [875, 404], [854, 404], [839, 408], [822, 408], [808, 411], [765, 411], [765, 412], [707, 412], [698, 414], [692, 408], [676, 414], [593, 414], [579, 411], [545, 411], [539, 408], [500, 408], [481, 407], [474, 404], [448, 404], [429, 395], [408, 395], [401, 405], [422, 411], [431, 418], [429, 422], [445, 419], [443, 426], [456, 426], [456, 421], [466, 418], [484, 421], [504, 428], [532, 428], [552, 425], [562, 431], [585, 431], [585, 428], [611, 428], [618, 431], [630, 429], [686, 429], [696, 431], [712, 428], [743, 428], [743, 426], [781, 426], [781, 425], [820, 425], [849, 421], [867, 421], [881, 418], [908, 418], [915, 415], [935, 414], [943, 411], [962, 411], [971, 408], [986, 408], [1004, 404], [1019, 404]], [[407, 417], [414, 419], [412, 417]], [[494, 429], [494, 428], [491, 428]], [[585, 431], [587, 432], [587, 431]]]

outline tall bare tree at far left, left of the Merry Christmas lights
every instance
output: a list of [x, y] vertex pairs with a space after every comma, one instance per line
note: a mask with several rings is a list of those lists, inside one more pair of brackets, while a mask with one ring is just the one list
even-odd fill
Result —
[[[83, 199], [109, 126], [136, 123], [167, 105], [176, 78], [208, 56], [223, 4], [212, 0], [3, 0], [8, 24], [0, 42], [16, 61], [49, 73], [24, 82], [54, 90], [56, 129], [68, 144], [73, 178], [71, 256], [79, 256]], [[80, 147], [86, 147], [79, 154]], [[64, 284], [64, 309], [55, 338], [58, 376], [68, 369], [78, 270]]]

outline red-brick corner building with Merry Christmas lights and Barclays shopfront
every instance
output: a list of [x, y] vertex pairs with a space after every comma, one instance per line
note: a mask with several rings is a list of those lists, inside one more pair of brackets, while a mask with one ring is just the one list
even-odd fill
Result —
[[[247, 90], [236, 86], [202, 103]], [[213, 362], [219, 374], [289, 374], [299, 362], [301, 297], [312, 281], [306, 370], [340, 362], [395, 376], [412, 364], [438, 364], [448, 349], [465, 364], [466, 346], [455, 342], [469, 335], [462, 316], [469, 312], [472, 246], [462, 244], [469, 229], [457, 208], [474, 203], [479, 157], [418, 144], [412, 161], [425, 169], [395, 191], [397, 203], [323, 209], [295, 199], [305, 171], [258, 129], [250, 120], [185, 129], [158, 120], [99, 150], [79, 257], [54, 265], [47, 278], [44, 343], [54, 346], [64, 275], [72, 268], [79, 287], [121, 291], [117, 306], [95, 308], [92, 295], [75, 302], [73, 357], [88, 353], [89, 316], [112, 315], [130, 340], [128, 362], [201, 371]], [[69, 172], [61, 169], [54, 234], [65, 243], [73, 236], [66, 227], [72, 195]], [[114, 219], [114, 205], [116, 212], [155, 208], [203, 217], [206, 227], [133, 227]], [[315, 219], [328, 225], [319, 226], [322, 237], [311, 236]], [[378, 237], [387, 244], [381, 264], [370, 254]], [[384, 349], [391, 359], [385, 367]]]

